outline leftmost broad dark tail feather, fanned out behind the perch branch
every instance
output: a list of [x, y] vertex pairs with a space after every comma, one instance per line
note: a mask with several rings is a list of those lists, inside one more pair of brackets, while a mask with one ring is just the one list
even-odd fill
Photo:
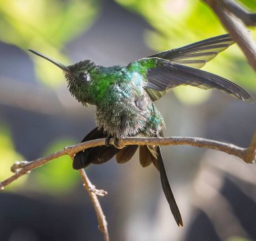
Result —
[[[84, 137], [82, 142], [100, 138], [106, 138], [106, 134], [104, 134], [102, 130], [98, 130], [98, 127], [96, 127], [88, 133], [86, 137]], [[86, 168], [91, 163], [102, 164], [104, 162], [108, 162], [108, 160], [113, 158], [118, 152], [119, 149], [114, 146], [106, 147], [105, 145], [79, 151], [73, 158], [73, 169], [79, 170]]]

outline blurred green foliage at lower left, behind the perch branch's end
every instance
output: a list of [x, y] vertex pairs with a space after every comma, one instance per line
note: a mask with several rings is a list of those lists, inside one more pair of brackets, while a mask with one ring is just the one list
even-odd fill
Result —
[[[11, 132], [6, 125], [0, 125], [0, 180], [4, 180], [13, 175], [10, 170], [11, 165], [16, 161], [22, 161], [24, 158], [14, 149], [11, 138]], [[55, 151], [63, 149], [67, 145], [74, 144], [70, 139], [61, 139], [49, 144], [49, 147], [40, 156], [47, 156]], [[63, 156], [55, 159], [53, 162], [34, 170], [30, 175], [22, 176], [8, 186], [7, 191], [16, 190], [23, 187], [26, 190], [34, 190], [51, 195], [59, 195], [71, 190], [77, 181], [80, 180], [79, 174], [71, 168], [72, 162], [69, 156]], [[26, 186], [24, 186], [24, 182]], [[31, 181], [32, 180], [32, 181]]]

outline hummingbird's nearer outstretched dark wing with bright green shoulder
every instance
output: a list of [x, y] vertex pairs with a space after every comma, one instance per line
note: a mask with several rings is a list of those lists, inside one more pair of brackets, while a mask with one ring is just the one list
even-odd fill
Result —
[[218, 75], [179, 65], [159, 58], [144, 58], [131, 62], [127, 68], [133, 66], [144, 73], [148, 84], [145, 88], [152, 100], [158, 100], [160, 95], [179, 85], [191, 85], [201, 89], [216, 88], [243, 101], [251, 102], [250, 94], [240, 86]]

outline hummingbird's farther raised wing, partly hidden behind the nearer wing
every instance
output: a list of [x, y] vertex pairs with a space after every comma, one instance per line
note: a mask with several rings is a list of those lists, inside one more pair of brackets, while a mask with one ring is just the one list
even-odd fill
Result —
[[200, 69], [222, 52], [230, 45], [234, 44], [234, 40], [229, 34], [223, 34], [214, 38], [207, 38], [181, 48], [174, 48], [156, 55], [151, 55], [148, 58], [157, 57], [166, 59], [179, 65], [186, 65], [189, 67]]

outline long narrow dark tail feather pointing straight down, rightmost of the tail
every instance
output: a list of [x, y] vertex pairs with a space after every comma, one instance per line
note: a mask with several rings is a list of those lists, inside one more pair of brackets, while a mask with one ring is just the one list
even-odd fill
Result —
[[181, 218], [181, 213], [179, 211], [179, 207], [174, 199], [172, 194], [172, 190], [170, 189], [170, 184], [168, 182], [168, 178], [164, 168], [164, 162], [162, 160], [162, 151], [161, 148], [158, 146], [156, 147], [156, 151], [158, 153], [158, 168], [160, 172], [160, 178], [162, 183], [162, 190], [164, 191], [164, 195], [170, 205], [170, 211], [172, 211], [172, 215], [174, 216], [175, 221], [177, 222], [178, 226], [183, 226], [183, 221]]

